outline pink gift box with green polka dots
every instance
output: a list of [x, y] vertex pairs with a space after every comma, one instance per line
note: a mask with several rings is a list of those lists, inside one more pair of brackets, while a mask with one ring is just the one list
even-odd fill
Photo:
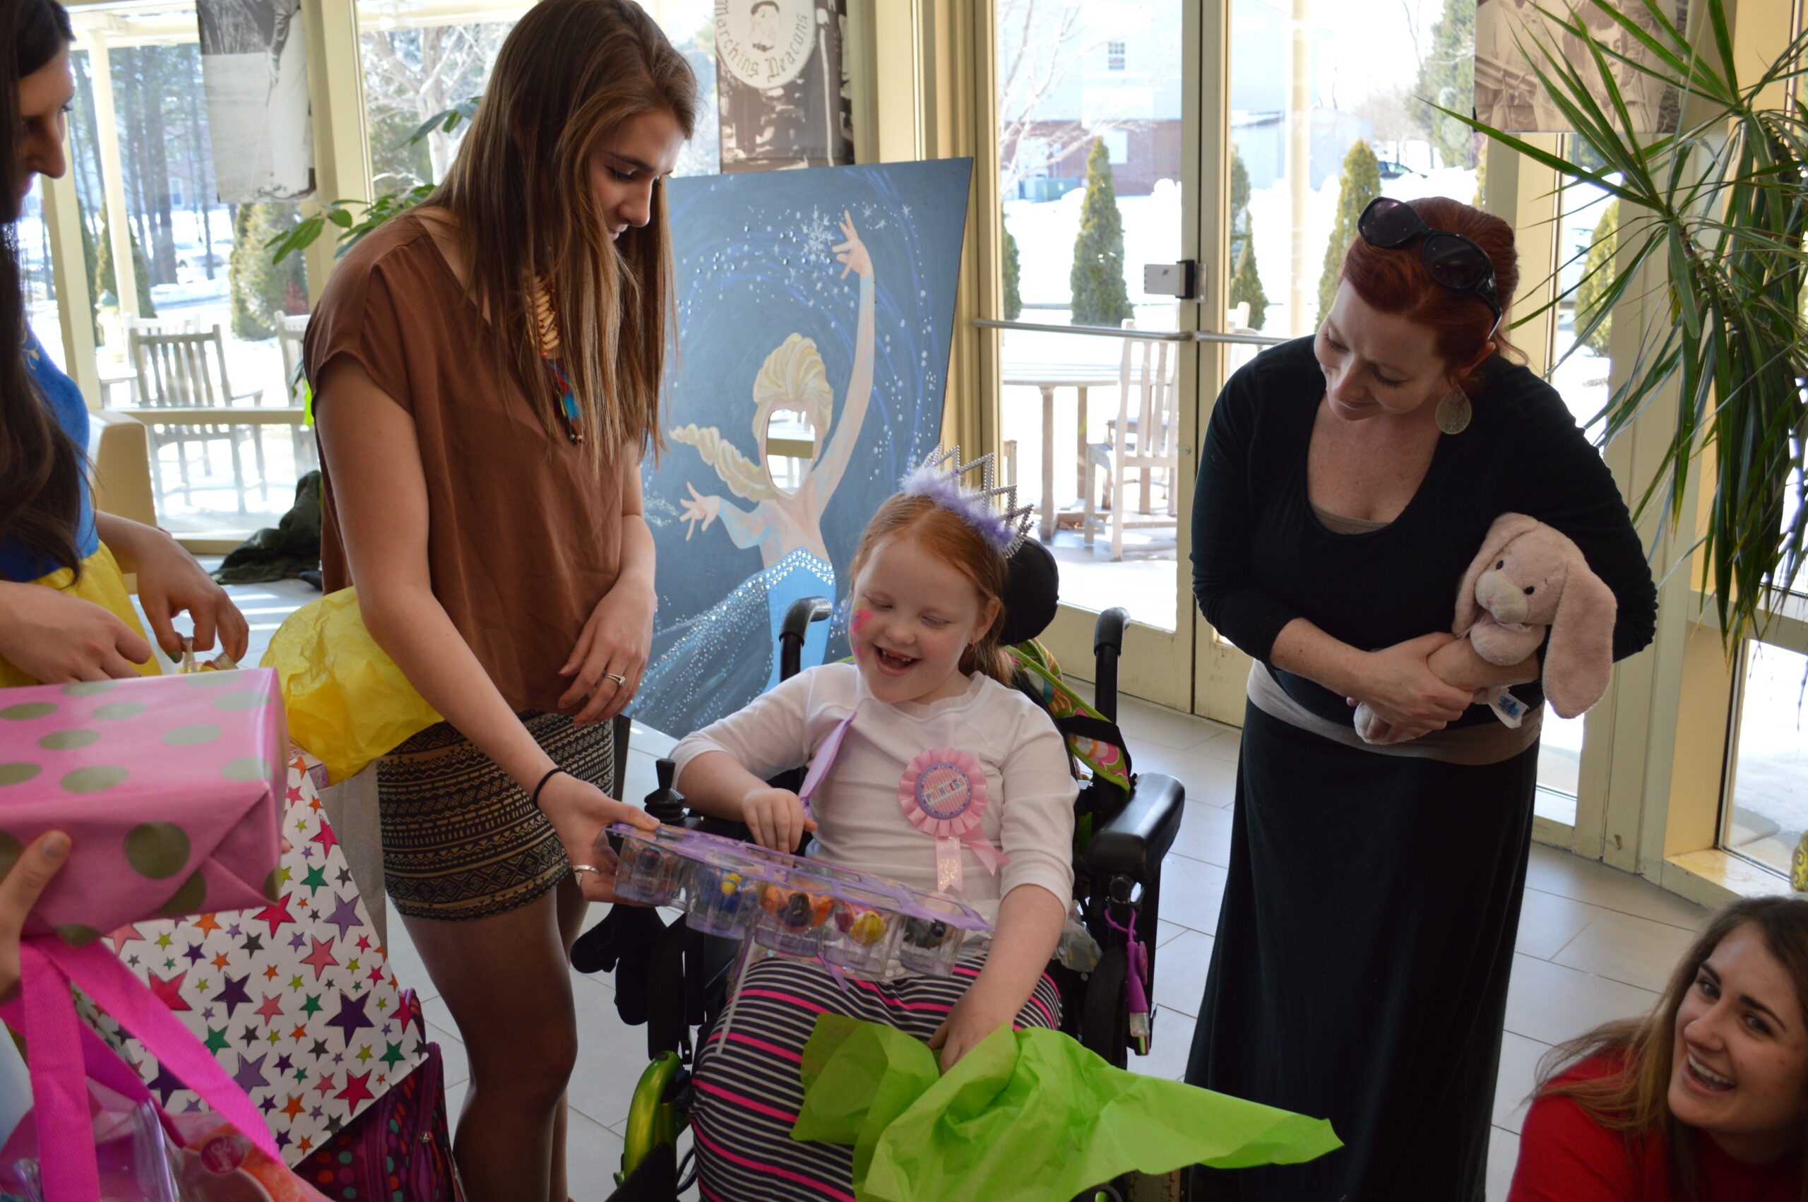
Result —
[[74, 844], [25, 933], [268, 906], [286, 759], [271, 669], [0, 690], [0, 871], [47, 830]]

